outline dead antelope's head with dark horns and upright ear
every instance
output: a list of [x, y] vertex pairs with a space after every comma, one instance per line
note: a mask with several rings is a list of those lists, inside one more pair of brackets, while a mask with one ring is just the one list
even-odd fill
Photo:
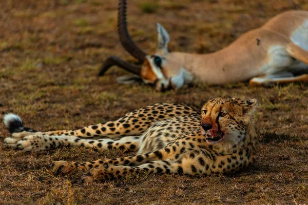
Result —
[[[119, 1], [118, 7], [118, 33], [123, 47], [133, 56], [136, 57], [142, 66], [131, 65], [124, 60], [112, 56], [105, 61], [100, 70], [99, 75], [103, 75], [112, 65], [118, 65], [125, 70], [137, 74], [146, 84], [151, 84], [157, 90], [176, 89], [182, 87], [186, 83], [190, 83], [192, 77], [183, 68], [182, 60], [168, 53], [169, 35], [167, 31], [157, 24], [158, 40], [157, 48], [153, 54], [144, 53], [128, 34], [126, 24], [126, 0]], [[118, 78], [120, 83], [130, 82], [132, 78]], [[135, 76], [136, 79], [136, 76]]]

